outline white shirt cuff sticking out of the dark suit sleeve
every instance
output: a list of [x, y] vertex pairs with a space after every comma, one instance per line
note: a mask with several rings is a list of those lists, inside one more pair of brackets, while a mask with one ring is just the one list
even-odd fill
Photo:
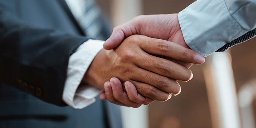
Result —
[[67, 79], [62, 99], [75, 109], [82, 109], [95, 102], [102, 90], [87, 84], [80, 84], [84, 74], [97, 53], [103, 48], [104, 41], [89, 39], [69, 58]]

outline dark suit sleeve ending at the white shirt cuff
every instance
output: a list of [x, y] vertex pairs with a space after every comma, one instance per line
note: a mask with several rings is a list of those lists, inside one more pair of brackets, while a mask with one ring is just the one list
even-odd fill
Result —
[[55, 105], [62, 100], [69, 57], [86, 37], [28, 25], [0, 8], [0, 82]]

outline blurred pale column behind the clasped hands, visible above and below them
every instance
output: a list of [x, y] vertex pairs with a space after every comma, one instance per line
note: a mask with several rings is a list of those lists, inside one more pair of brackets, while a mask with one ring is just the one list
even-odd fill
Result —
[[[121, 25], [143, 14], [142, 0], [112, 0], [111, 17], [114, 26]], [[121, 106], [123, 128], [148, 128], [148, 106], [127, 108]]]

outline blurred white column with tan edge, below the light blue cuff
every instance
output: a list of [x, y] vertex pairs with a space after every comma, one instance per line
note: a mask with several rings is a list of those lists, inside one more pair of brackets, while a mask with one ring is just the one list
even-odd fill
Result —
[[240, 128], [231, 56], [213, 53], [203, 65], [213, 128]]

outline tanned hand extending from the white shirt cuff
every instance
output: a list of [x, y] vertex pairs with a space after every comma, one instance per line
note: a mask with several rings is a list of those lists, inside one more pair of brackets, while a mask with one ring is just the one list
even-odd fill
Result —
[[180, 64], [154, 55], [194, 64], [200, 64], [194, 58], [203, 57], [169, 41], [132, 35], [114, 50], [102, 49], [84, 75], [83, 82], [104, 90], [103, 84], [117, 77], [122, 83], [132, 82], [145, 97], [166, 101], [171, 94], [180, 93], [177, 80], [188, 81], [192, 73]]

